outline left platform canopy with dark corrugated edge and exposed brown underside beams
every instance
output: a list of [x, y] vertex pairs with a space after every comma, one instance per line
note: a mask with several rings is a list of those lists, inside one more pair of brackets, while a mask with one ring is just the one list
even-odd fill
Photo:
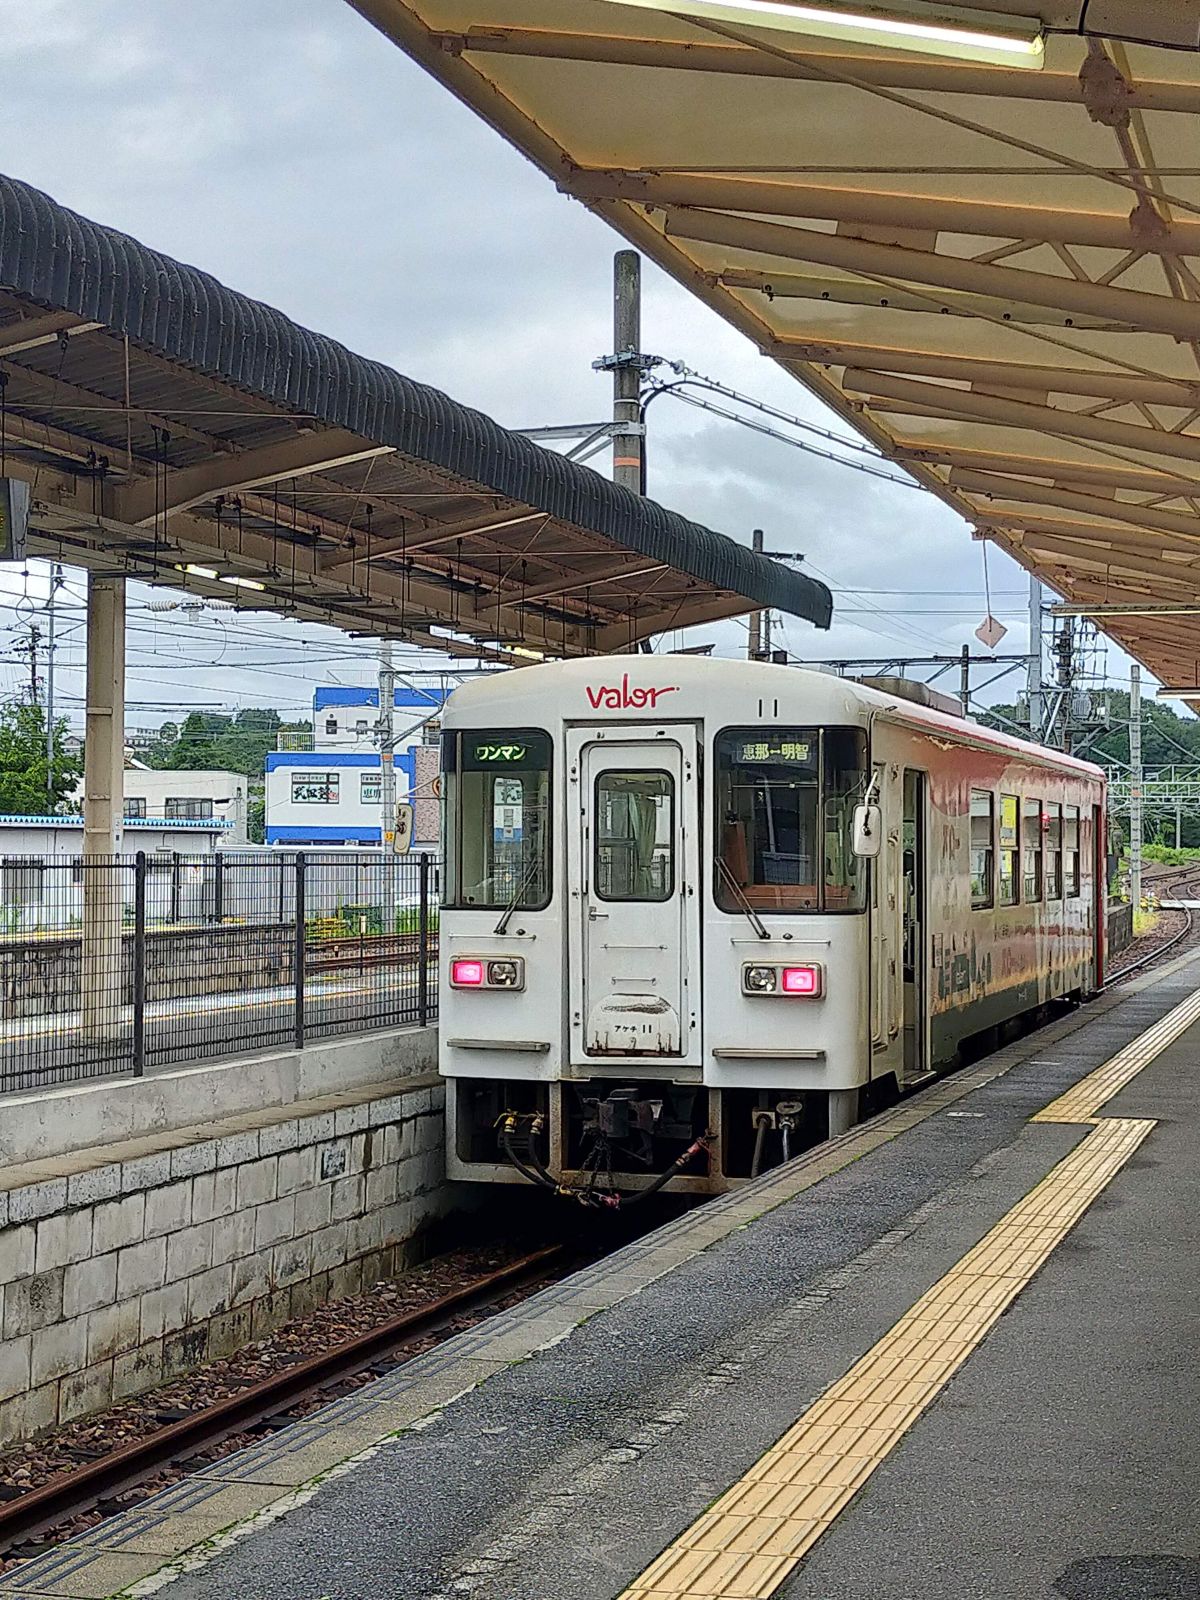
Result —
[[0, 178], [30, 554], [461, 656], [629, 650], [824, 584]]

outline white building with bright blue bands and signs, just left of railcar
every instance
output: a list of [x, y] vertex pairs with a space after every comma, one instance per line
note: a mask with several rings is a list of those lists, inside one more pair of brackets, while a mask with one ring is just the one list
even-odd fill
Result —
[[[419, 802], [432, 797], [437, 758], [429, 741], [435, 738], [445, 699], [445, 690], [395, 691], [395, 798], [414, 806], [416, 846], [437, 843], [434, 808]], [[269, 845], [294, 850], [306, 845], [379, 845], [382, 763], [378, 720], [378, 690], [318, 688], [314, 693], [312, 750], [267, 755]]]

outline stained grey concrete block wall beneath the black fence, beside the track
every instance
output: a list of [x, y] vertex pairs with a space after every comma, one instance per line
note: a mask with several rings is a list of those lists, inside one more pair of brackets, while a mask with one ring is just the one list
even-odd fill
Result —
[[443, 1091], [363, 1086], [106, 1155], [0, 1176], [0, 1446], [398, 1270], [445, 1208]]

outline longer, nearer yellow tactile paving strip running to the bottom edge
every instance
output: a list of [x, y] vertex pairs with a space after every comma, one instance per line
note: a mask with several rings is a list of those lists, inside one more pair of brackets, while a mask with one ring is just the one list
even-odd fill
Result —
[[1152, 1126], [1098, 1123], [621, 1600], [774, 1594]]

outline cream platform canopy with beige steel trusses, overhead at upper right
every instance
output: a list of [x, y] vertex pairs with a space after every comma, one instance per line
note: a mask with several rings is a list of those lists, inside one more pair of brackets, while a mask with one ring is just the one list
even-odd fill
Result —
[[1200, 685], [1200, 0], [350, 3]]

